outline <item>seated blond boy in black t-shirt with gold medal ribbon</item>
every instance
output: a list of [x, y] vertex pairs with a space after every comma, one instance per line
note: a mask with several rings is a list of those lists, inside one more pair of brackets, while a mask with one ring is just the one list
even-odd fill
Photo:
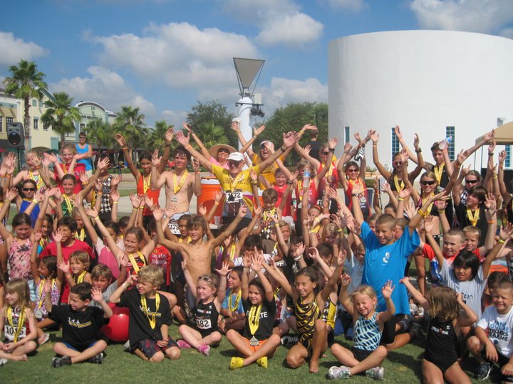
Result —
[[[156, 265], [147, 265], [137, 276], [130, 274], [110, 297], [110, 302], [130, 309], [130, 351], [152, 363], [166, 357], [171, 360], [180, 358], [180, 348], [168, 335], [172, 324], [170, 305], [157, 292], [162, 282], [162, 270]], [[126, 291], [135, 283], [137, 289]]]

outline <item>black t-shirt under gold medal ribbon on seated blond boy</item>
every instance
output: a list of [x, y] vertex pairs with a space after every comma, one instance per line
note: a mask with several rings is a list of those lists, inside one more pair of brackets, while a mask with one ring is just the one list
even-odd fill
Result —
[[124, 292], [120, 297], [117, 306], [126, 306], [130, 309], [130, 322], [128, 323], [128, 337], [130, 339], [130, 350], [134, 350], [139, 341], [150, 339], [154, 341], [162, 340], [160, 327], [162, 324], [167, 326], [172, 324], [171, 309], [169, 302], [164, 295], [160, 294], [160, 304], [158, 310], [155, 308], [155, 298], [146, 298], [147, 311], [150, 317], [155, 314], [155, 328], [152, 329], [142, 304], [140, 294], [137, 289], [130, 289]]

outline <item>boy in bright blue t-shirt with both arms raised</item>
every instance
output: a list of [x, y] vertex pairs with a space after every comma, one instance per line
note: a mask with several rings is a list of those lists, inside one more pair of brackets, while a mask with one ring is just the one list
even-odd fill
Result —
[[[400, 334], [395, 339], [396, 323], [405, 315], [410, 314], [408, 303], [408, 291], [399, 280], [404, 277], [408, 257], [419, 247], [420, 238], [415, 228], [423, 217], [417, 213], [408, 223], [403, 235], [395, 240], [395, 218], [392, 215], [380, 215], [375, 223], [375, 233], [363, 220], [363, 213], [358, 203], [358, 195], [361, 193], [361, 186], [353, 187], [353, 215], [361, 225], [361, 238], [366, 248], [365, 264], [363, 265], [362, 284], [368, 284], [378, 294], [378, 307], [376, 311], [385, 311], [385, 299], [380, 289], [389, 279], [395, 284], [392, 294], [392, 301], [395, 305], [395, 317], [385, 321], [381, 344], [385, 345], [388, 351], [404, 346], [410, 341], [413, 334]], [[438, 196], [431, 196], [428, 200]], [[430, 204], [428, 201], [427, 204]]]

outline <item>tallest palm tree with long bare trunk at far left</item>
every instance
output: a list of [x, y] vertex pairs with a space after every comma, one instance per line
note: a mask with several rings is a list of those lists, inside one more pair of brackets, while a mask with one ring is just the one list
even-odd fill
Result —
[[28, 149], [31, 124], [30, 99], [32, 97], [36, 97], [37, 100], [43, 98], [42, 90], [47, 87], [46, 82], [43, 81], [45, 74], [38, 71], [37, 65], [33, 61], [28, 62], [23, 59], [20, 60], [17, 67], [12, 65], [9, 72], [11, 76], [4, 80], [6, 93], [24, 101], [25, 149]]

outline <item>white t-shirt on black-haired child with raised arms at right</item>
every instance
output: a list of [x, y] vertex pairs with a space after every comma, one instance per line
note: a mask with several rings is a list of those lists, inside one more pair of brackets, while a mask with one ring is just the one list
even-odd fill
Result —
[[487, 282], [487, 279], [484, 279], [483, 276], [482, 266], [474, 279], [460, 282], [454, 275], [454, 268], [449, 267], [444, 260], [440, 275], [442, 276], [442, 285], [454, 289], [456, 293], [462, 293], [463, 302], [474, 311], [478, 318], [481, 317], [481, 296]]

